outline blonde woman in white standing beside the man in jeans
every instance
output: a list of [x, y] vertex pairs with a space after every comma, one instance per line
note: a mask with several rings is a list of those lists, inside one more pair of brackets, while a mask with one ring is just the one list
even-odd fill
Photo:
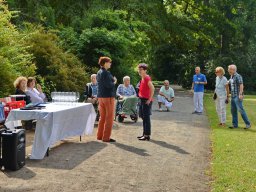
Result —
[[215, 99], [216, 111], [219, 117], [219, 125], [225, 126], [226, 123], [226, 104], [228, 103], [229, 87], [228, 80], [224, 76], [225, 70], [222, 67], [215, 69], [216, 84], [215, 93], [217, 98]]

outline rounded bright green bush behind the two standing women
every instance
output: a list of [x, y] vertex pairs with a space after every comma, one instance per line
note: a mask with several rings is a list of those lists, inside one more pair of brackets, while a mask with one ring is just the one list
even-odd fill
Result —
[[98, 11], [88, 20], [90, 28], [83, 30], [77, 41], [79, 58], [95, 68], [100, 56], [108, 56], [113, 60], [112, 73], [119, 83], [129, 74], [135, 84], [138, 76], [134, 68], [140, 61], [147, 60], [141, 55], [146, 55], [148, 38], [140, 28], [148, 26], [127, 18], [125, 11]]

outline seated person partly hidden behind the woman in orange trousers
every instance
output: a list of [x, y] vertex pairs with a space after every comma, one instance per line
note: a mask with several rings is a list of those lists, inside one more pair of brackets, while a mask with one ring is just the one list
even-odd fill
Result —
[[92, 74], [91, 82], [87, 83], [85, 86], [85, 91], [84, 91], [85, 101], [84, 102], [93, 104], [93, 107], [97, 114], [96, 121], [98, 121], [99, 120], [99, 110], [98, 110], [99, 102], [98, 102], [98, 98], [97, 98], [98, 84], [97, 84], [96, 76], [97, 76], [96, 74]]

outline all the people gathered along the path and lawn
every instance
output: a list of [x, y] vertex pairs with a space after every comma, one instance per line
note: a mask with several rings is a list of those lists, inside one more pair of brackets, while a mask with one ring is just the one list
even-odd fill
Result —
[[[150, 140], [150, 115], [155, 87], [151, 81], [151, 77], [147, 74], [148, 65], [145, 63], [138, 65], [138, 73], [141, 76], [141, 80], [136, 86], [138, 88], [138, 92], [136, 92], [134, 87], [130, 84], [129, 76], [123, 78], [123, 84], [120, 84], [115, 91], [117, 79], [109, 72], [112, 60], [109, 57], [100, 57], [98, 63], [100, 70], [97, 74], [91, 75], [91, 82], [86, 85], [87, 102], [97, 106], [99, 110], [100, 118], [97, 139], [103, 142], [115, 142], [115, 140], [111, 138], [115, 115], [115, 99], [118, 98], [124, 101], [129, 97], [138, 97], [139, 116], [143, 120], [143, 133], [137, 138], [139, 140]], [[230, 128], [238, 127], [237, 111], [239, 111], [245, 122], [245, 129], [248, 129], [251, 127], [251, 123], [243, 108], [244, 86], [242, 76], [237, 73], [237, 67], [235, 65], [229, 65], [228, 72], [231, 76], [229, 80], [224, 76], [225, 70], [222, 67], [215, 69], [216, 85], [214, 99], [220, 121], [219, 125], [224, 126], [226, 123], [226, 104], [229, 102], [229, 93], [231, 92], [232, 126], [230, 126]], [[206, 76], [200, 72], [200, 67], [196, 67], [192, 83], [192, 92], [194, 94], [193, 114], [203, 113], [204, 86], [206, 84]], [[41, 103], [46, 99], [41, 86], [39, 84], [36, 86], [36, 79], [34, 77], [18, 77], [14, 82], [14, 86], [16, 88], [15, 94], [24, 95], [26, 104]], [[160, 88], [157, 101], [159, 111], [163, 111], [162, 105], [166, 107], [167, 111], [170, 111], [174, 101], [174, 90], [170, 87], [168, 80], [165, 80], [164, 85]]]

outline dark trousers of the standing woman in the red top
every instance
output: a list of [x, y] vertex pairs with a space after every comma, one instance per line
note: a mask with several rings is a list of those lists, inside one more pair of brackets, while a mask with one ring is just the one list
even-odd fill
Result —
[[139, 114], [143, 120], [143, 135], [151, 135], [150, 115], [152, 102], [150, 102], [149, 105], [147, 105], [146, 102], [147, 99], [140, 99]]

